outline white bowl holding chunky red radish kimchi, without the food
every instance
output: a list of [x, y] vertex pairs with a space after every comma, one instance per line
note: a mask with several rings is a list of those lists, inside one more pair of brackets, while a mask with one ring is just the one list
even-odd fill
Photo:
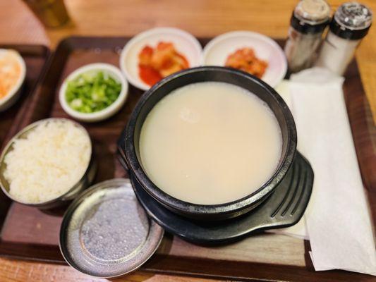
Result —
[[131, 85], [141, 90], [150, 89], [138, 75], [138, 54], [145, 45], [156, 47], [158, 42], [172, 42], [176, 50], [186, 57], [189, 67], [202, 65], [202, 47], [190, 33], [174, 27], [157, 27], [133, 37], [124, 46], [120, 56], [120, 68]]

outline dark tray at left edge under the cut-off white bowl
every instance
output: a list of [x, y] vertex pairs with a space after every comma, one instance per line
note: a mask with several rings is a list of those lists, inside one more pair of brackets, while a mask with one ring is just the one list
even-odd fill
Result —
[[42, 78], [47, 61], [49, 49], [42, 45], [0, 45], [0, 49], [14, 49], [20, 53], [26, 64], [26, 77], [21, 88], [20, 99], [3, 113], [0, 113], [0, 152], [4, 143], [16, 132], [21, 121], [23, 111], [28, 107], [29, 94], [33, 92], [37, 82]]

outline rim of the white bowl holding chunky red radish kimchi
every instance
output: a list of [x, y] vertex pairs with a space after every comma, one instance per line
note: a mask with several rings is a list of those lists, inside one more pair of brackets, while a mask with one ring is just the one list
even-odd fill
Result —
[[[138, 35], [135, 35], [134, 37], [132, 37], [126, 43], [126, 45], [124, 45], [123, 50], [121, 51], [121, 54], [120, 54], [120, 62], [119, 62], [121, 72], [123, 73], [123, 75], [126, 76], [127, 80], [129, 81], [129, 83], [131, 83], [131, 85], [139, 88], [140, 90], [146, 91], [146, 90], [149, 90], [151, 87], [141, 83], [140, 80], [138, 80], [137, 78], [134, 78], [133, 75], [131, 75], [131, 73], [128, 72], [128, 68], [126, 67], [126, 57], [128, 56], [129, 51], [131, 50], [131, 48], [136, 42], [159, 32], [169, 32], [171, 34], [181, 35], [182, 37], [185, 37], [186, 39], [188, 39], [190, 42], [193, 43], [196, 51], [198, 51], [198, 54], [200, 54], [198, 58], [199, 60], [198, 66], [201, 66], [203, 62], [202, 46], [200, 42], [198, 41], [196, 37], [191, 35], [189, 32], [186, 32], [185, 30], [181, 30], [176, 27], [154, 27], [154, 28], [151, 28], [150, 30], [145, 30], [143, 32], [140, 32]], [[191, 66], [191, 67], [194, 67], [194, 66]]]

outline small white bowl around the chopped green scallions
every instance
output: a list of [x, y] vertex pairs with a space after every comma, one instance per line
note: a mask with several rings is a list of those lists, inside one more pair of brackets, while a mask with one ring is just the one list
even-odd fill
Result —
[[[68, 105], [68, 102], [66, 101], [66, 87], [68, 85], [68, 81], [73, 80], [77, 78], [78, 75], [88, 71], [102, 71], [103, 73], [107, 73], [111, 76], [111, 78], [114, 78], [114, 80], [121, 83], [121, 92], [114, 103], [109, 105], [107, 108], [102, 109], [102, 111], [95, 111], [94, 113], [81, 113], [80, 111], [75, 111], [75, 109], [72, 109], [71, 106]], [[119, 68], [116, 68], [109, 63], [90, 63], [89, 65], [78, 68], [77, 70], [73, 71], [73, 73], [68, 75], [60, 87], [59, 101], [63, 107], [63, 110], [66, 111], [66, 114], [77, 119], [78, 121], [92, 123], [95, 121], [103, 121], [104, 119], [116, 114], [116, 112], [119, 111], [126, 102], [127, 96], [128, 82], [121, 74]]]

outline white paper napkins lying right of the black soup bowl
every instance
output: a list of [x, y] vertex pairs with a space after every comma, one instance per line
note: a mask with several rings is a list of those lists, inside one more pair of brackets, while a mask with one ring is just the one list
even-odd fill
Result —
[[344, 269], [376, 275], [372, 223], [346, 113], [344, 78], [311, 68], [282, 82], [296, 121], [298, 150], [315, 173], [303, 219], [275, 233], [310, 240], [316, 270]]

